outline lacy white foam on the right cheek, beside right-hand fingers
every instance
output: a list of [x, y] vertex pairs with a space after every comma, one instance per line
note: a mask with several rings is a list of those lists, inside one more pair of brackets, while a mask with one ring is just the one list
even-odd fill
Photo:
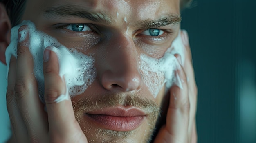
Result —
[[179, 33], [162, 58], [156, 59], [144, 54], [140, 56], [140, 69], [143, 72], [144, 83], [155, 98], [164, 84], [166, 85], [166, 91], [173, 84], [176, 84], [182, 89], [182, 81], [175, 74], [175, 70], [181, 67], [174, 55], [180, 55], [183, 65], [185, 58], [184, 50], [185, 47]]

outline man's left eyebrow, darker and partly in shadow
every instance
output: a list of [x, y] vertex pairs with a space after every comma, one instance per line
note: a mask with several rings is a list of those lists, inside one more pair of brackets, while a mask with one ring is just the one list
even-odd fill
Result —
[[76, 5], [61, 5], [56, 7], [49, 7], [43, 10], [44, 15], [50, 18], [56, 18], [56, 16], [63, 17], [79, 17], [92, 20], [94, 22], [104, 22], [110, 24], [112, 18], [107, 13], [103, 12], [92, 12], [90, 9]]

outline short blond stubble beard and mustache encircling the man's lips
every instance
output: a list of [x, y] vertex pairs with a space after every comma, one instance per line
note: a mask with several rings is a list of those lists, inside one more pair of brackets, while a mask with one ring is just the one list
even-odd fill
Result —
[[[85, 99], [79, 99], [78, 101], [72, 101], [72, 103], [76, 120], [85, 133], [89, 143], [126, 143], [127, 140], [132, 139], [133, 136], [136, 136], [138, 133], [140, 134], [142, 132], [144, 132], [144, 134], [143, 136], [139, 136], [140, 141], [137, 142], [150, 143], [155, 130], [155, 124], [160, 115], [160, 106], [157, 105], [155, 101], [135, 94], [103, 95], [100, 99], [87, 97]], [[96, 130], [94, 129], [95, 131], [92, 131], [92, 126], [88, 125], [87, 121], [84, 121], [83, 117], [88, 112], [103, 110], [104, 108], [118, 105], [134, 106], [143, 110], [147, 114], [147, 127], [139, 127], [131, 131], [114, 131], [103, 128], [97, 128]], [[88, 135], [94, 136], [94, 139], [91, 139]]]

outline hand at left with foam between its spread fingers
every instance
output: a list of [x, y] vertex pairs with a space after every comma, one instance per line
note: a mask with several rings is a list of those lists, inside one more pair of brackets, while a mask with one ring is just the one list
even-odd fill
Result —
[[[26, 26], [19, 31], [26, 30]], [[37, 82], [33, 73], [33, 60], [24, 41], [18, 43], [17, 59], [11, 57], [7, 87], [7, 109], [13, 138], [18, 143], [87, 143], [87, 139], [76, 121], [72, 102], [56, 103], [54, 100], [65, 94], [65, 81], [58, 75], [56, 54], [46, 49], [43, 63], [45, 78], [44, 105], [38, 96]], [[47, 59], [47, 55], [49, 59]]]

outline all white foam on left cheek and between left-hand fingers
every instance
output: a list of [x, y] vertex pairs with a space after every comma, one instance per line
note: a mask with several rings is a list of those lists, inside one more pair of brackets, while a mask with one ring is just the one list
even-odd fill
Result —
[[[83, 93], [96, 77], [96, 69], [93, 65], [94, 58], [84, 55], [74, 48], [66, 48], [61, 45], [55, 38], [38, 31], [35, 25], [30, 21], [24, 21], [20, 25], [11, 29], [11, 43], [6, 50], [7, 70], [9, 70], [9, 62], [11, 55], [17, 57], [18, 44], [18, 29], [22, 25], [27, 25], [27, 31], [20, 31], [20, 41], [26, 39], [29, 35], [29, 40], [26, 46], [33, 56], [34, 75], [38, 81], [38, 92], [40, 99], [44, 101], [44, 76], [43, 76], [43, 51], [50, 46], [50, 50], [54, 51], [59, 62], [59, 76], [64, 77], [66, 83], [66, 93], [59, 96], [56, 102], [68, 99], [69, 96], [75, 96]], [[8, 72], [7, 72], [8, 74]], [[7, 75], [8, 76], [8, 75]]]

